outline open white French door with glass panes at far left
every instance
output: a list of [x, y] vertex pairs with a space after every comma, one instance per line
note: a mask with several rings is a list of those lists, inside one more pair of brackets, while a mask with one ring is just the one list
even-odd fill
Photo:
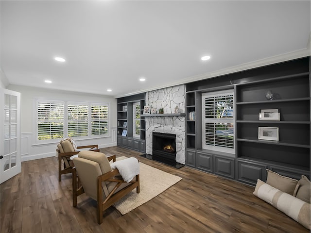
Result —
[[0, 183], [21, 172], [20, 93], [1, 89]]

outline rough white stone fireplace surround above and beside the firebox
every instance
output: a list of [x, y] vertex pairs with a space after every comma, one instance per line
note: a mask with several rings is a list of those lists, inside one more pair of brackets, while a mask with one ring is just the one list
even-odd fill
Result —
[[[163, 88], [146, 93], [145, 105], [164, 109], [164, 114], [185, 113], [185, 85]], [[146, 123], [146, 154], [152, 155], [153, 132], [176, 134], [176, 162], [185, 164], [185, 116], [152, 116], [145, 117]]]

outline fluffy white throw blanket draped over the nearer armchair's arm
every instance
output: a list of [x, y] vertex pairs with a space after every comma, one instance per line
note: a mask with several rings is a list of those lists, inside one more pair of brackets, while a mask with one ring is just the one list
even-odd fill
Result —
[[139, 163], [137, 158], [134, 157], [112, 163], [111, 169], [115, 168], [119, 170], [120, 175], [126, 183], [129, 183], [139, 174]]

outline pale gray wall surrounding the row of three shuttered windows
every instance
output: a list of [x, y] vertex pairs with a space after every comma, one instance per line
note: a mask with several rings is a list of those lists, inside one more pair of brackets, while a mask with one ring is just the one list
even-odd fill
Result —
[[110, 105], [110, 136], [104, 138], [77, 140], [76, 143], [78, 146], [98, 144], [100, 148], [117, 145], [117, 100], [113, 97], [11, 84], [9, 84], [6, 89], [21, 93], [22, 161], [51, 157], [55, 155], [57, 143], [42, 145], [36, 144], [35, 142], [35, 101], [38, 99], [108, 103]]

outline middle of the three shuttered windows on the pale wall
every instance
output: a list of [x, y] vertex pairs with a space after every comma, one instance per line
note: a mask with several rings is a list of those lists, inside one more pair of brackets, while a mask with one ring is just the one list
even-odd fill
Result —
[[68, 136], [88, 136], [88, 104], [67, 105]]

